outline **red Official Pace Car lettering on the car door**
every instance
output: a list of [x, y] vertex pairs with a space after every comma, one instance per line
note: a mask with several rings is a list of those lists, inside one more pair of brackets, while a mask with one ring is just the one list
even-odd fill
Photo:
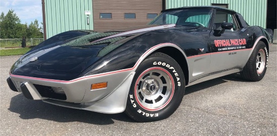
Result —
[[[215, 46], [218, 47], [218, 51], [245, 49], [245, 39], [227, 39], [227, 40], [215, 40]], [[235, 46], [235, 47], [229, 47]]]

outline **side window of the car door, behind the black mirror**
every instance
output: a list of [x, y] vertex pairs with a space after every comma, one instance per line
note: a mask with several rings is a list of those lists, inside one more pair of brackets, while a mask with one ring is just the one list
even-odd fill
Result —
[[214, 29], [221, 30], [222, 23], [232, 23], [233, 24], [233, 29], [226, 30], [226, 31], [236, 31], [238, 29], [237, 23], [232, 14], [223, 12], [223, 11], [217, 11], [215, 19], [214, 19], [214, 26], [213, 26]]

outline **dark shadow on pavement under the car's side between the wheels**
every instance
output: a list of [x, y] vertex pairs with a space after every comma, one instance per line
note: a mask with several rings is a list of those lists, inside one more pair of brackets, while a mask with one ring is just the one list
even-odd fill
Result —
[[237, 82], [251, 82], [251, 81], [247, 81], [242, 79], [242, 77], [240, 76], [239, 73], [234, 73], [234, 74], [230, 74], [230, 75], [226, 75], [223, 77], [219, 77], [219, 78], [215, 78], [212, 80], [208, 80], [208, 81], [204, 81], [195, 85], [191, 85], [185, 88], [185, 95], [186, 94], [190, 94], [202, 89], [206, 89], [215, 85], [219, 85], [222, 83], [226, 83], [229, 81], [237, 81]]

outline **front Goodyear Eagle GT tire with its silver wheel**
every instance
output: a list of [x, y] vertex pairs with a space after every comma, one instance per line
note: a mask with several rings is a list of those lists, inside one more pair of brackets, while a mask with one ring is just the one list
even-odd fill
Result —
[[184, 90], [178, 63], [166, 54], [154, 53], [135, 71], [125, 113], [140, 122], [165, 119], [179, 107]]

